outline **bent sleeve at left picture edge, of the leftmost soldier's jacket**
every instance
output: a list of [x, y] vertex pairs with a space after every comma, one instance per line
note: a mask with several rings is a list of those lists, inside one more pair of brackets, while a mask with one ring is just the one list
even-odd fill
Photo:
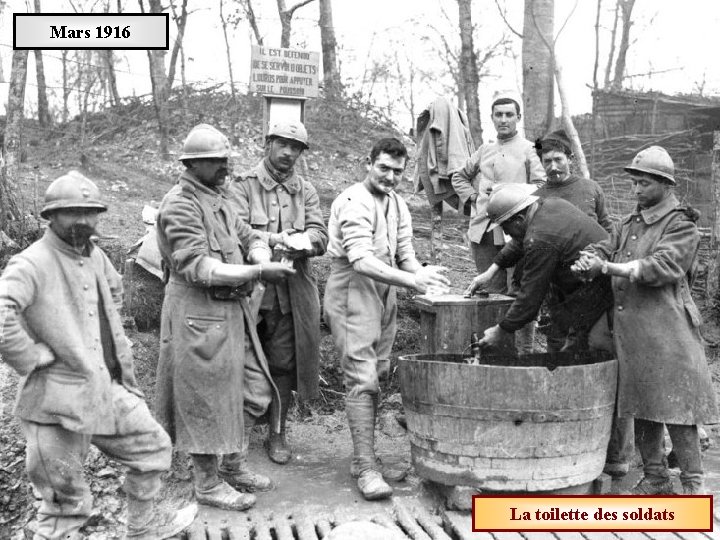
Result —
[[14, 257], [0, 278], [0, 354], [20, 375], [35, 368], [40, 347], [22, 320], [22, 313], [35, 301], [37, 274], [32, 263]]

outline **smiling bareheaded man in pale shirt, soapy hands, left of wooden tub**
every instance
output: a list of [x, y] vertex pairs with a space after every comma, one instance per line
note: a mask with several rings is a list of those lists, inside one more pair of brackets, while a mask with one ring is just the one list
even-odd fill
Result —
[[367, 175], [343, 191], [330, 209], [325, 320], [340, 357], [345, 410], [353, 440], [350, 473], [367, 500], [392, 495], [375, 457], [378, 380], [390, 366], [396, 330], [396, 287], [446, 292], [444, 268], [422, 266], [412, 246], [412, 222], [395, 193], [407, 149], [380, 139], [367, 158]]

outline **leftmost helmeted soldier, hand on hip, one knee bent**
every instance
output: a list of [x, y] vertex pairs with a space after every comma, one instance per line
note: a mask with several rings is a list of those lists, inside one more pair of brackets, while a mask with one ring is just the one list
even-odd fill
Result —
[[168, 514], [153, 502], [171, 443], [135, 382], [118, 314], [122, 279], [91, 240], [106, 210], [91, 180], [77, 171], [61, 176], [45, 193], [44, 236], [0, 278], [0, 354], [25, 377], [15, 413], [42, 498], [36, 539], [81, 537], [92, 510], [83, 479], [90, 444], [128, 467], [127, 538], [174, 536], [197, 510]]

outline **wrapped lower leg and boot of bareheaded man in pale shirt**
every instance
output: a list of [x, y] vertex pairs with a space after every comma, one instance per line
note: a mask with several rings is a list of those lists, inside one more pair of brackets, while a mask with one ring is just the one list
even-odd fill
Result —
[[358, 489], [368, 501], [386, 499], [392, 488], [377, 470], [375, 458], [375, 407], [372, 396], [345, 398], [345, 412], [353, 440], [353, 459], [350, 474], [358, 479]]

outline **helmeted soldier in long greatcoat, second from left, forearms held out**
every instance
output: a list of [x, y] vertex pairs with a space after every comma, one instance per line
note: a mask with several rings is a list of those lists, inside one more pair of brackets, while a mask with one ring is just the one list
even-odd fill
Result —
[[177, 449], [192, 457], [196, 500], [244, 510], [255, 503], [244, 492], [273, 488], [247, 464], [250, 431], [275, 392], [249, 297], [260, 280], [295, 271], [270, 262], [267, 244], [231, 204], [229, 157], [225, 135], [194, 127], [180, 155], [186, 170], [160, 205], [167, 284], [157, 415]]

